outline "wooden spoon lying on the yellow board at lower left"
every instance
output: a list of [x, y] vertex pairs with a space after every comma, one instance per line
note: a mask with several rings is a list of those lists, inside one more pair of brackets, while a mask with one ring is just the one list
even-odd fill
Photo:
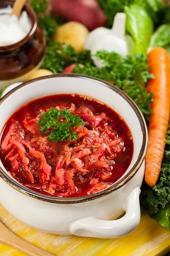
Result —
[[20, 250], [22, 253], [26, 253], [28, 256], [54, 256], [54, 254], [48, 253], [32, 244], [29, 244], [20, 237], [14, 235], [7, 227], [5, 227], [0, 221], [0, 243], [7, 244]]

